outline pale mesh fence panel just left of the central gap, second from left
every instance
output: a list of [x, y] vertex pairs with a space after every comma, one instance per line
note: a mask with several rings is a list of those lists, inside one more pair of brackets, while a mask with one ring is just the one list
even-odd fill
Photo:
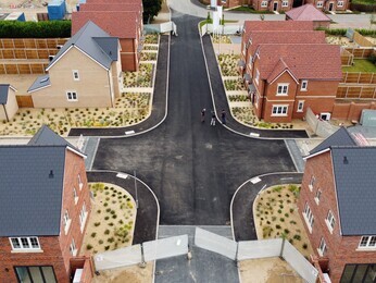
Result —
[[161, 238], [142, 244], [145, 261], [188, 254], [188, 235]]

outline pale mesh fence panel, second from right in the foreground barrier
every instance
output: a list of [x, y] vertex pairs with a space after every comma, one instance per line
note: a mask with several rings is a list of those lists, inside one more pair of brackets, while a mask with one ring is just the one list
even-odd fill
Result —
[[279, 257], [283, 239], [239, 242], [238, 260]]

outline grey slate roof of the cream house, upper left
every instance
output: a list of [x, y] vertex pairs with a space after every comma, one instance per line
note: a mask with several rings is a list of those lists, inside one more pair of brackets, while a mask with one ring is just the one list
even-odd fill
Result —
[[[98, 38], [108, 39], [98, 40]], [[47, 70], [49, 70], [72, 46], [77, 47], [98, 63], [109, 69], [111, 63], [114, 61], [112, 56], [110, 56], [110, 51], [117, 57], [117, 40], [116, 37], [111, 37], [98, 25], [88, 21], [68, 41], [65, 42], [47, 66]], [[116, 41], [116, 46], [114, 45], [114, 41]]]

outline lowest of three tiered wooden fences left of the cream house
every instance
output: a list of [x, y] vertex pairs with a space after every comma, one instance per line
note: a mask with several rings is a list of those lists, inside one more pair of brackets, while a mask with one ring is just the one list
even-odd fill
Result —
[[46, 74], [46, 63], [1, 63], [0, 62], [0, 75], [21, 75], [21, 74]]

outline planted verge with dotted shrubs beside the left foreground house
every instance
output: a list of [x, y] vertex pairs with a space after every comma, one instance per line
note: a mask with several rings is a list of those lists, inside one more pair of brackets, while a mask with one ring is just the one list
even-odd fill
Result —
[[130, 246], [136, 221], [133, 197], [113, 184], [90, 183], [89, 186], [95, 200], [80, 254]]

